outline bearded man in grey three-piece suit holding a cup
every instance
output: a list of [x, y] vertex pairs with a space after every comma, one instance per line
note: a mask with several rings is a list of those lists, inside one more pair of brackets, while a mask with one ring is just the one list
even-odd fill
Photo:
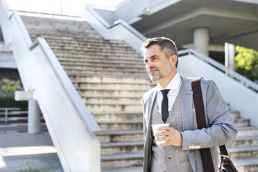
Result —
[[[144, 172], [203, 172], [200, 148], [210, 148], [214, 169], [218, 171], [216, 146], [234, 139], [237, 131], [215, 83], [201, 80], [208, 127], [198, 130], [191, 78], [177, 73], [175, 43], [166, 37], [155, 37], [146, 40], [141, 49], [150, 80], [157, 82], [143, 97]], [[154, 135], [151, 125], [160, 123], [169, 123], [169, 127], [158, 128]], [[156, 141], [165, 143], [157, 145]]]

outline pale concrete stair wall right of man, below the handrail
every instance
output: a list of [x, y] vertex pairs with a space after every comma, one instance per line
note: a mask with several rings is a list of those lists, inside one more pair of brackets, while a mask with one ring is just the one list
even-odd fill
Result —
[[179, 58], [178, 72], [188, 77], [203, 76], [214, 80], [225, 101], [230, 103], [230, 109], [239, 110], [242, 118], [250, 119], [252, 126], [258, 126], [258, 94], [252, 89], [248, 89], [194, 55]]

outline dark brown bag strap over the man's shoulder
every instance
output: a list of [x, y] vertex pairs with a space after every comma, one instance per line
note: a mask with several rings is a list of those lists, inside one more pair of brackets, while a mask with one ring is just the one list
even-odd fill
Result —
[[[191, 87], [193, 90], [193, 103], [196, 109], [196, 121], [198, 129], [206, 128], [205, 108], [203, 106], [203, 94], [200, 87], [202, 78], [194, 78]], [[200, 154], [203, 160], [203, 168], [205, 172], [215, 172], [212, 162], [212, 154], [209, 148], [200, 149]]]

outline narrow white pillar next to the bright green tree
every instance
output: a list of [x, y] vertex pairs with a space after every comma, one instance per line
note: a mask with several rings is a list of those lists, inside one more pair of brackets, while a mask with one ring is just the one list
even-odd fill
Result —
[[234, 71], [234, 44], [225, 43], [225, 67]]

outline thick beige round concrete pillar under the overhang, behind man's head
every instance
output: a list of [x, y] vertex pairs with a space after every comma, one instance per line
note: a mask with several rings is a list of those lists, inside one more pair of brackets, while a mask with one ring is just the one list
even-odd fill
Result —
[[193, 31], [193, 44], [194, 49], [209, 56], [209, 29], [195, 28]]

